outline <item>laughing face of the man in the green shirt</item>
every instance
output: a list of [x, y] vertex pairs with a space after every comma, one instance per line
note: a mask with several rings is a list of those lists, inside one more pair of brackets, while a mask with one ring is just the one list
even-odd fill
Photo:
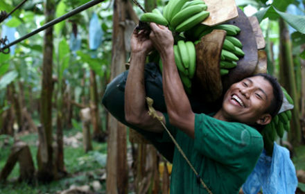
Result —
[[226, 92], [223, 110], [233, 121], [254, 124], [270, 106], [272, 85], [262, 76], [245, 78], [236, 82]]

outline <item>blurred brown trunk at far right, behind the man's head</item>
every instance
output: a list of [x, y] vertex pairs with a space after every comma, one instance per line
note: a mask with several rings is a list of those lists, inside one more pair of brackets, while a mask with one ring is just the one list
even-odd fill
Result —
[[293, 55], [291, 51], [291, 41], [287, 28], [287, 24], [283, 19], [279, 19], [279, 63], [280, 63], [280, 80], [281, 85], [287, 89], [288, 94], [295, 103], [295, 107], [292, 110], [293, 117], [291, 122], [290, 133], [288, 139], [293, 146], [299, 145], [301, 142], [301, 127], [299, 122], [299, 99], [297, 99], [297, 88], [295, 84], [295, 72], [293, 65]]

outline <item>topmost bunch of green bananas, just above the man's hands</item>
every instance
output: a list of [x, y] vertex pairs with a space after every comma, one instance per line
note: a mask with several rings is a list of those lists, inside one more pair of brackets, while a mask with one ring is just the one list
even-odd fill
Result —
[[202, 0], [169, 0], [164, 7], [163, 15], [155, 8], [140, 17], [140, 21], [155, 22], [168, 26], [173, 32], [181, 33], [200, 24], [209, 16], [207, 5]]

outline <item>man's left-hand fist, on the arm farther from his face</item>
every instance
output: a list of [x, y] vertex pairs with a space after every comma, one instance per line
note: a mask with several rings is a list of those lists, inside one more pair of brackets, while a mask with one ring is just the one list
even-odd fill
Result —
[[147, 55], [153, 49], [153, 44], [149, 39], [149, 32], [135, 28], [130, 40], [130, 46], [132, 53]]

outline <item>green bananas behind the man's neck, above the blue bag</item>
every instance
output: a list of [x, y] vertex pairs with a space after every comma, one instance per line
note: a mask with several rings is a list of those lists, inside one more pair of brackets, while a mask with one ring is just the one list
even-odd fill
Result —
[[[293, 105], [293, 99], [289, 96], [286, 89], [284, 89], [284, 87], [281, 87], [281, 89], [286, 99], [288, 100], [288, 103]], [[273, 142], [275, 141], [277, 136], [282, 138], [285, 131], [289, 132], [291, 117], [292, 114], [290, 109], [286, 110], [285, 112], [281, 112], [277, 114], [277, 116], [272, 118], [272, 121], [268, 125], [266, 125], [265, 128], [263, 128], [263, 130], [261, 131], [261, 134], [263, 136], [264, 148], [268, 155], [272, 155]]]

